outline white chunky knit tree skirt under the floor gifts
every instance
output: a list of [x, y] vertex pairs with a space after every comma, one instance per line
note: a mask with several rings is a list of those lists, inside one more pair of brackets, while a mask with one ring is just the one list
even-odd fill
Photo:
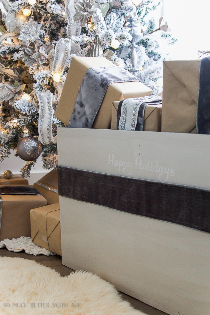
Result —
[[[26, 254], [29, 255], [56, 255], [55, 253], [51, 252], [48, 249], [40, 247], [34, 244], [31, 241], [30, 237], [21, 236], [20, 238], [13, 238], [13, 239], [4, 239], [0, 242], [0, 248], [6, 247], [8, 250], [13, 252], [21, 252], [25, 250]], [[1, 252], [0, 252], [1, 254]]]

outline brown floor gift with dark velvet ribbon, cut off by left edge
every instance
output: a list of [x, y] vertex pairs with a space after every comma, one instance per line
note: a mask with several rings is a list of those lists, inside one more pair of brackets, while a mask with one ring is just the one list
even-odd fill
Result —
[[0, 240], [31, 236], [30, 209], [47, 204], [30, 185], [0, 186]]

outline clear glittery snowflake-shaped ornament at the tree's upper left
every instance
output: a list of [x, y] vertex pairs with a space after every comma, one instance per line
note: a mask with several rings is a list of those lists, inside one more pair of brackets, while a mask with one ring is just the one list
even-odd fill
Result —
[[20, 39], [23, 43], [26, 43], [26, 46], [28, 47], [30, 43], [35, 42], [36, 39], [39, 39], [41, 27], [42, 24], [38, 24], [36, 21], [34, 21], [34, 17], [31, 16], [31, 19], [26, 22], [24, 26], [21, 26], [20, 36], [18, 39]]

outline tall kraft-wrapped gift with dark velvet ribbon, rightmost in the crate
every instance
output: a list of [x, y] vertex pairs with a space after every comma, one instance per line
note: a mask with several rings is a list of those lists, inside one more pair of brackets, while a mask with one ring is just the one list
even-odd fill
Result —
[[210, 134], [210, 57], [164, 61], [162, 132]]

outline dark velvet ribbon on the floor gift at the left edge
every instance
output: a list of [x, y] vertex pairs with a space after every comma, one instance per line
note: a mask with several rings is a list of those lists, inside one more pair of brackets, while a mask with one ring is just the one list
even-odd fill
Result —
[[2, 186], [0, 187], [0, 231], [2, 222], [2, 197], [1, 195], [41, 195], [34, 187], [29, 186]]

